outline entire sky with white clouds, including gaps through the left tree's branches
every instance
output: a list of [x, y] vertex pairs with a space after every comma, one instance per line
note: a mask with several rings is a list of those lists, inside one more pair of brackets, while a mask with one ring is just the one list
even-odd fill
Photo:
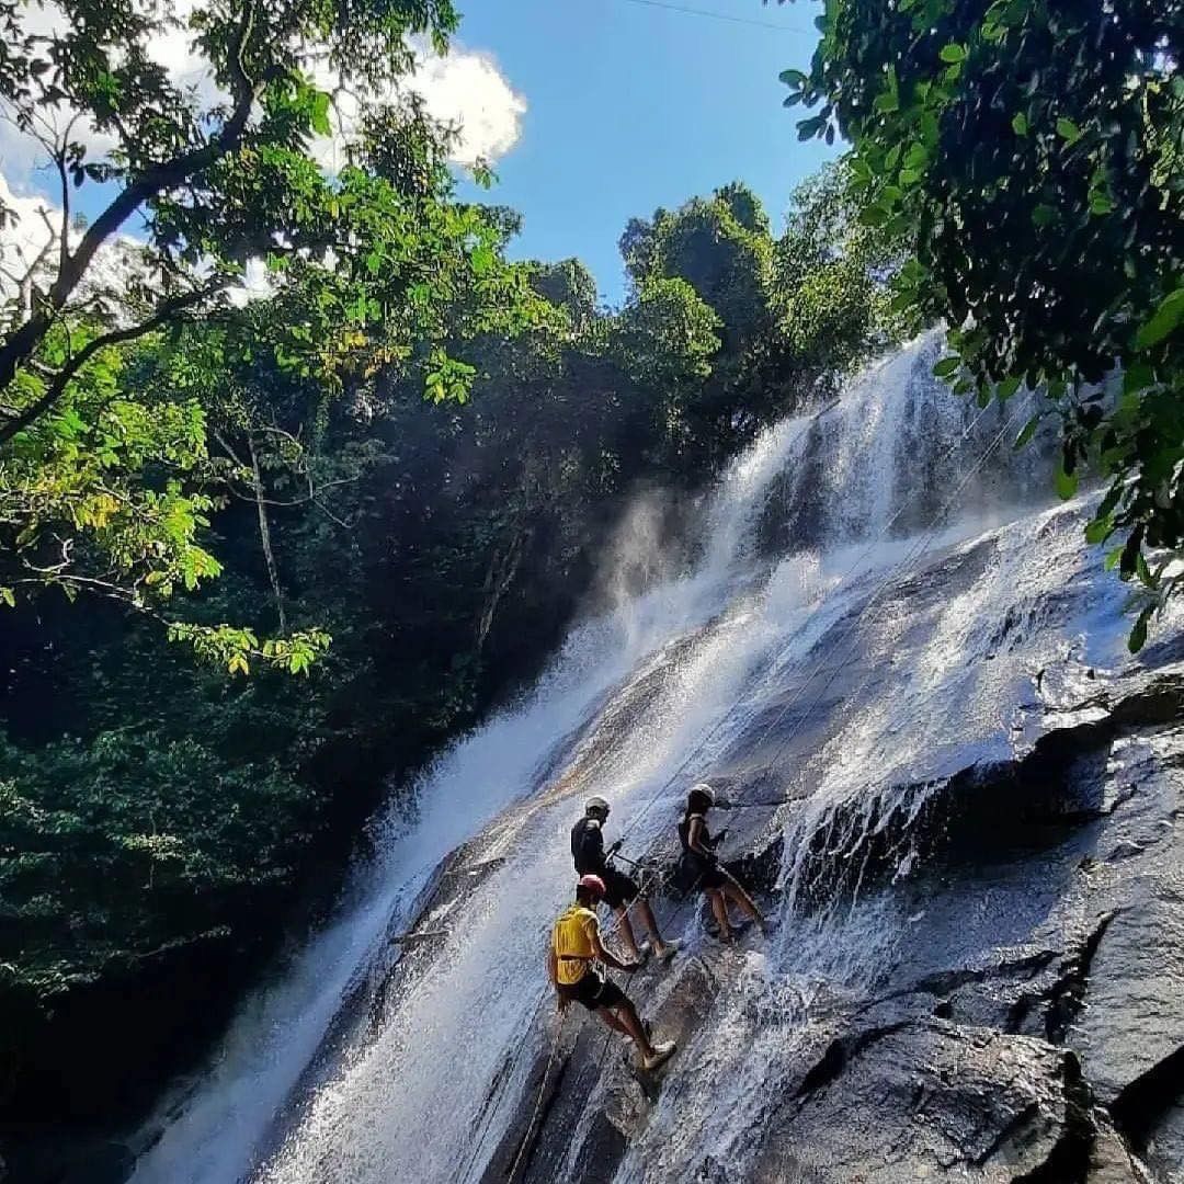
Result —
[[[188, 7], [191, 0], [174, 2]], [[777, 77], [809, 63], [817, 0], [458, 4], [469, 11], [453, 52], [426, 54], [410, 84], [433, 115], [463, 124], [458, 159], [496, 157], [500, 184], [491, 194], [464, 188], [523, 215], [513, 255], [578, 256], [609, 303], [625, 294], [617, 240], [629, 218], [744, 180], [778, 226], [793, 186], [835, 152], [798, 142], [798, 109], [781, 105], [785, 88]], [[732, 19], [674, 11], [680, 6]], [[26, 24], [43, 33], [60, 19], [52, 6], [25, 12]], [[156, 38], [149, 52], [174, 81], [215, 101], [208, 63], [185, 28]], [[334, 89], [332, 78], [318, 81]], [[336, 167], [356, 114], [335, 114], [345, 122], [314, 146], [327, 169]], [[92, 129], [76, 134], [91, 159], [109, 150]], [[12, 234], [30, 256], [47, 237], [38, 208], [47, 201], [52, 210], [58, 200], [44, 159], [33, 141], [0, 123], [0, 201], [17, 212]], [[109, 198], [102, 186], [88, 185], [75, 205], [92, 215]], [[126, 230], [135, 234], [136, 219]]]

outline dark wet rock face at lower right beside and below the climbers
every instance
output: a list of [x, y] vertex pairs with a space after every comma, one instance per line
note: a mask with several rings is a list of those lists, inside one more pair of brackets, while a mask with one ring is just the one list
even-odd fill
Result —
[[[797, 1015], [784, 1000], [764, 1016], [738, 1009], [759, 940], [746, 953], [703, 939], [668, 973], [630, 984], [680, 1041], [664, 1080], [578, 1017], [535, 1120], [510, 1124], [514, 1178], [1182, 1184], [1182, 704], [1178, 668], [1132, 674], [1058, 709], [1016, 760], [951, 777], [914, 821], [924, 857], [912, 874], [894, 882], [887, 858], [879, 874], [874, 849], [863, 868], [867, 907], [889, 910], [905, 938], [862, 991], [822, 990]], [[722, 787], [739, 807], [734, 867], [761, 893], [781, 863], [784, 819], [757, 807], [760, 777]], [[889, 831], [882, 847], [899, 850]], [[701, 908], [663, 905], [671, 926]], [[742, 1137], [703, 1154], [680, 1137], [680, 1105], [699, 1081], [721, 1107], [738, 1099], [719, 1043], [704, 1048], [700, 1034], [734, 1030], [739, 1073], [762, 1055], [770, 1022], [793, 1038], [762, 1062], [760, 1096], [739, 1099]], [[688, 1113], [702, 1111], [688, 1102]], [[503, 1153], [485, 1179], [507, 1175]]]

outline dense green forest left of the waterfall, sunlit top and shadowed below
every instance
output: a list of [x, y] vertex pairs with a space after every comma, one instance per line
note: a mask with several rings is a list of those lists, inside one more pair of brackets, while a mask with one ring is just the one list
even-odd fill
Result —
[[[67, 102], [120, 144], [92, 161], [69, 128], [41, 135], [53, 233], [0, 260], [0, 1032], [18, 1111], [49, 1092], [104, 1112], [124, 1069], [150, 1087], [146, 1068], [174, 1063], [308, 915], [302, 896], [332, 897], [386, 780], [594, 610], [636, 491], [693, 506], [762, 425], [907, 328], [899, 250], [842, 167], [777, 233], [739, 184], [632, 220], [617, 309], [578, 260], [508, 260], [516, 215], [458, 198], [456, 129], [413, 97], [373, 102], [326, 172], [330, 96], [287, 46], [328, 46], [365, 90], [408, 67], [408, 30], [443, 39], [455, 14], [278, 7], [288, 39], [252, 5], [195, 9], [221, 86], [201, 109], [143, 54], [136, 5], [63, 5], [56, 40], [0, 5], [8, 109], [41, 134]], [[88, 187], [108, 204], [78, 221]], [[143, 230], [122, 238], [133, 210]]]

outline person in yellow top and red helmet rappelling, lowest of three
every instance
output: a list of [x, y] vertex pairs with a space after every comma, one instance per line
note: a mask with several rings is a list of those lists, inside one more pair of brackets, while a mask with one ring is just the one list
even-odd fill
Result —
[[637, 1008], [611, 979], [601, 976], [596, 963], [614, 970], [632, 971], [641, 963], [622, 961], [605, 948], [600, 940], [600, 922], [596, 915], [597, 902], [607, 888], [599, 876], [580, 876], [575, 886], [575, 903], [558, 921], [551, 938], [547, 974], [559, 993], [560, 1009], [580, 1003], [594, 1011], [610, 1028], [623, 1032], [642, 1054], [642, 1067], [656, 1069], [675, 1051], [675, 1042], [650, 1042]]

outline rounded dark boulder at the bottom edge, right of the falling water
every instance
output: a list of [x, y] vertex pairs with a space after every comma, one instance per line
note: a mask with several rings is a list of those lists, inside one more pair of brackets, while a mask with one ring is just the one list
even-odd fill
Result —
[[771, 1118], [753, 1178], [1004, 1184], [1067, 1158], [1085, 1103], [1074, 1057], [1043, 1041], [940, 1019], [866, 1028]]

